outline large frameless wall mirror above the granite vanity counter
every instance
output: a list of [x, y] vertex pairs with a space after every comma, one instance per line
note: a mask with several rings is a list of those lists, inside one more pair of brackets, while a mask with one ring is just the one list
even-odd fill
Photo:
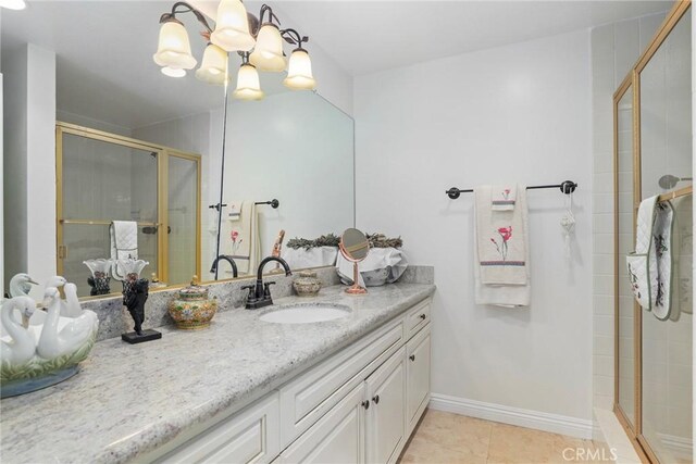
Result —
[[[80, 297], [91, 291], [83, 262], [110, 258], [113, 221], [137, 224], [138, 256], [150, 263], [141, 275], [156, 273], [166, 285], [194, 274], [214, 279], [217, 254], [234, 256], [239, 276], [253, 274], [281, 230], [287, 241], [355, 225], [352, 118], [321, 97], [321, 81], [319, 92], [290, 90], [285, 73], [260, 74], [262, 100], [234, 99], [236, 54], [226, 100], [223, 86], [196, 79], [195, 70], [163, 75], [152, 55], [160, 16], [173, 3], [37, 1], [1, 17], [3, 62], [27, 43], [55, 53], [57, 109], [47, 117], [57, 122], [59, 205], [45, 206], [58, 224], [55, 252], [45, 259]], [[200, 25], [190, 14], [177, 18], [200, 60]], [[219, 217], [209, 206], [221, 200]], [[232, 277], [221, 261], [217, 279]], [[111, 291], [120, 287], [112, 283]]]

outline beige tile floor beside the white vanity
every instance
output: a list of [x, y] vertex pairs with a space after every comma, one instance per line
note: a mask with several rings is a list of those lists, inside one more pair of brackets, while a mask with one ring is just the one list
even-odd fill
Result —
[[[594, 454], [600, 453], [601, 450], [597, 451], [592, 440], [427, 410], [401, 454], [400, 462], [401, 464], [602, 462], [588, 460], [588, 452]], [[601, 459], [600, 454], [595, 456]], [[607, 455], [605, 462], [609, 462], [609, 459]]]

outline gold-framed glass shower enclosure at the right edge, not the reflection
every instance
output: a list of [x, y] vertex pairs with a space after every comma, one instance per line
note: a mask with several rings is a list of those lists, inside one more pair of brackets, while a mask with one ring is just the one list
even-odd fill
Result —
[[[691, 2], [674, 4], [614, 96], [614, 410], [636, 450], [652, 463], [693, 457], [691, 13]], [[634, 305], [623, 256], [634, 249], [639, 202], [655, 196], [671, 220], [652, 231], [660, 277], [646, 311]]]

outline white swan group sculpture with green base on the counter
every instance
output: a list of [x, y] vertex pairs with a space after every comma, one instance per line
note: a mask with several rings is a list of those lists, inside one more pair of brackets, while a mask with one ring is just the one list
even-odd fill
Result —
[[[49, 280], [51, 283], [58, 279]], [[65, 380], [77, 374], [78, 363], [89, 355], [97, 340], [99, 318], [95, 312], [79, 308], [74, 284], [63, 285], [67, 302], [60, 299], [58, 288], [46, 288], [44, 303], [48, 314], [34, 312], [34, 300], [26, 296], [2, 303], [0, 397], [27, 393]], [[61, 316], [61, 306], [71, 302], [77, 304], [77, 316]], [[18, 324], [17, 314], [30, 317], [28, 327]], [[39, 315], [41, 317], [37, 317]]]

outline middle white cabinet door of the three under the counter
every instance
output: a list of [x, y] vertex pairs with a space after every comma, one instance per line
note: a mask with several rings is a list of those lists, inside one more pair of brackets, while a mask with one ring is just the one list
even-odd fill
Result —
[[368, 462], [393, 463], [406, 442], [406, 349], [394, 353], [365, 380]]

